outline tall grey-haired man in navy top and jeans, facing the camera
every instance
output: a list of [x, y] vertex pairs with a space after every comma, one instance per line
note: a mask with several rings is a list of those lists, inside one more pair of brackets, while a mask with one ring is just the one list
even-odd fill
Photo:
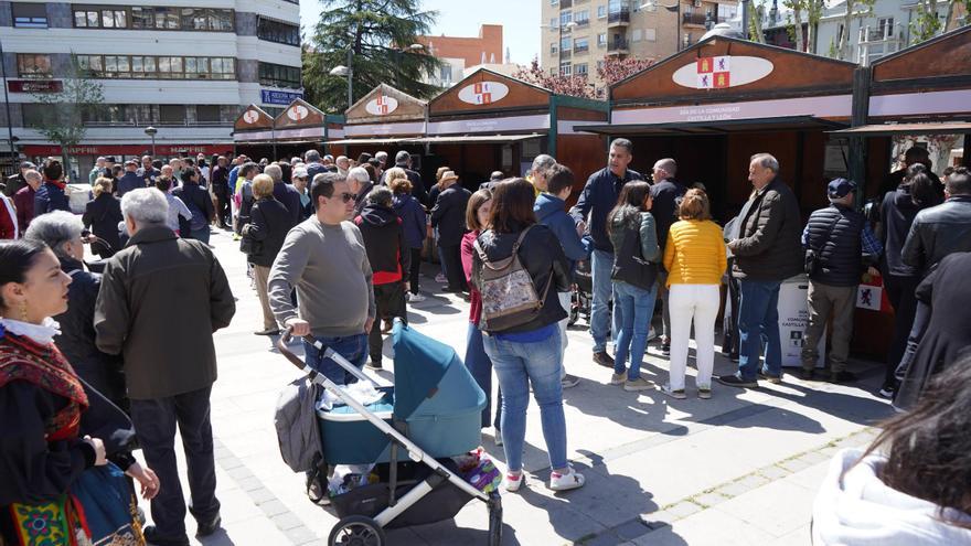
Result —
[[[569, 210], [577, 233], [589, 229], [594, 253], [590, 270], [594, 277], [594, 304], [590, 310], [590, 333], [594, 335], [594, 362], [613, 367], [613, 358], [607, 354], [607, 332], [610, 331], [609, 301], [613, 290], [610, 274], [613, 270], [613, 245], [607, 236], [607, 214], [617, 204], [620, 189], [631, 180], [643, 180], [637, 171], [627, 168], [633, 159], [633, 144], [625, 138], [610, 142], [607, 167], [590, 174], [577, 204]], [[615, 328], [616, 332], [617, 329]]]

